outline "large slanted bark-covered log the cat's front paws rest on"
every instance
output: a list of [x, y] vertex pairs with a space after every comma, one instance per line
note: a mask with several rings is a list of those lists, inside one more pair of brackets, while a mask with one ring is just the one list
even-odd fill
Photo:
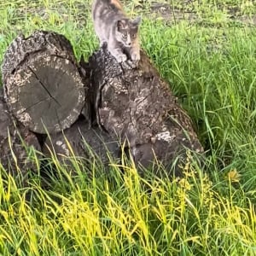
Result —
[[188, 148], [203, 151], [189, 116], [143, 51], [138, 67], [130, 67], [103, 46], [90, 57], [89, 67], [97, 123], [128, 142], [137, 166], [151, 166], [157, 158], [169, 168], [178, 156], [186, 158]]

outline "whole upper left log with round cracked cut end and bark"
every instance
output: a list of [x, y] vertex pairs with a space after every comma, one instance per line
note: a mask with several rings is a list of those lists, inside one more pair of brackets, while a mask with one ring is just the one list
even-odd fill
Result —
[[2, 66], [9, 109], [31, 131], [70, 127], [84, 107], [84, 84], [67, 38], [55, 32], [19, 36]]

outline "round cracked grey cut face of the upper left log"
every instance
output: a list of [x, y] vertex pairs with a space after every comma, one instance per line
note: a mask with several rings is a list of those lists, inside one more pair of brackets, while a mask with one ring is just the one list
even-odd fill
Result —
[[14, 74], [6, 91], [15, 117], [31, 131], [61, 131], [84, 106], [84, 84], [72, 61], [33, 54]]

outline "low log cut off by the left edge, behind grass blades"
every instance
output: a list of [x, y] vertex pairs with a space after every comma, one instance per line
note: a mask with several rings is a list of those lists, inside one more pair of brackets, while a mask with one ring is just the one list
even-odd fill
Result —
[[3, 90], [0, 90], [0, 162], [3, 168], [14, 176], [25, 175], [28, 169], [38, 170], [36, 161], [28, 156], [31, 147], [41, 150], [38, 138], [15, 122], [3, 100]]

